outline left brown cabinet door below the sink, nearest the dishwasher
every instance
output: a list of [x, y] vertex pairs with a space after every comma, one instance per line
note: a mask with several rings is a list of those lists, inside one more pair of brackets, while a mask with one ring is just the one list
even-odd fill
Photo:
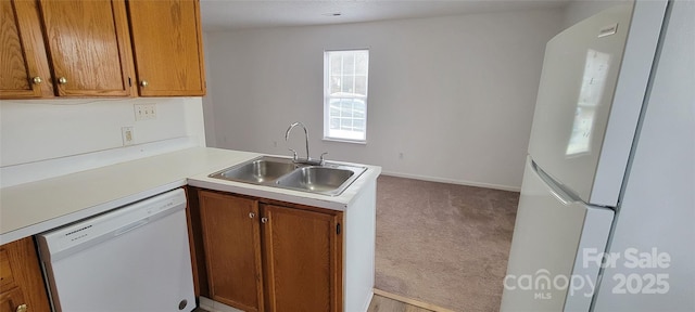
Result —
[[212, 299], [263, 311], [257, 202], [204, 191], [199, 200]]

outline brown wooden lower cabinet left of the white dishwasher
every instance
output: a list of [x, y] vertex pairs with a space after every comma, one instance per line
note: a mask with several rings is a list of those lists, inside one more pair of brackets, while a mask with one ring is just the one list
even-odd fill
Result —
[[51, 311], [31, 237], [0, 246], [0, 312]]

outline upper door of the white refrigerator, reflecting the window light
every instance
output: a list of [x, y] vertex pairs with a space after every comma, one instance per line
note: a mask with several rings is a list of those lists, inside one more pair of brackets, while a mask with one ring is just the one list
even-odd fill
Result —
[[[631, 25], [632, 9], [602, 11], [548, 41], [533, 117], [531, 157], [598, 206], [617, 206], [658, 37]], [[626, 44], [639, 55], [623, 58]]]

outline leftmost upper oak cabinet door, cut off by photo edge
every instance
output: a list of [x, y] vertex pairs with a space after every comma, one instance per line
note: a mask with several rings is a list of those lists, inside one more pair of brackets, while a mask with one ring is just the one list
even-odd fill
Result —
[[0, 1], [0, 99], [52, 96], [35, 1]]

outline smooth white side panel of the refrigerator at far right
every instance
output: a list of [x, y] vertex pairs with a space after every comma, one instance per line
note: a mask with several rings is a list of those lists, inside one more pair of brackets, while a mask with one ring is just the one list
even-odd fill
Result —
[[[695, 2], [671, 4], [608, 250], [620, 258], [606, 269], [594, 311], [695, 311]], [[631, 269], [629, 248], [646, 255], [656, 248], [670, 261]], [[621, 276], [630, 277], [628, 286], [618, 284]], [[666, 294], [648, 294], [655, 289]]]

